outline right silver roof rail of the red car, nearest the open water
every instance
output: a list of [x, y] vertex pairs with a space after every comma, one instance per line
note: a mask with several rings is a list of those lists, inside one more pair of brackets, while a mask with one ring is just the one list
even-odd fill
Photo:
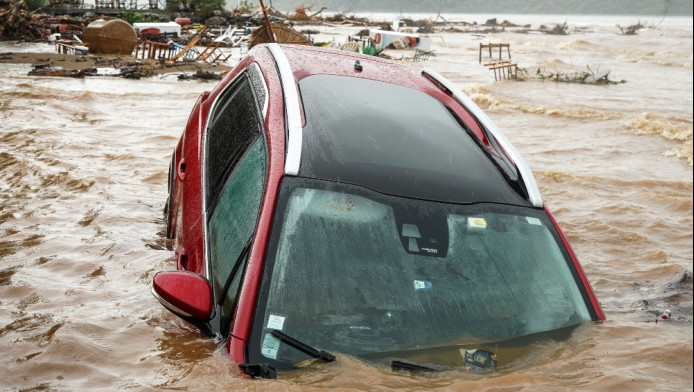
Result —
[[448, 89], [453, 94], [453, 97], [457, 99], [458, 102], [460, 102], [463, 106], [465, 106], [470, 113], [475, 116], [477, 120], [485, 128], [487, 128], [487, 130], [489, 130], [501, 148], [506, 151], [509, 158], [511, 158], [513, 163], [516, 165], [520, 177], [523, 179], [523, 183], [525, 184], [525, 189], [528, 192], [528, 200], [530, 203], [532, 203], [535, 207], [542, 207], [542, 195], [540, 194], [540, 189], [537, 187], [537, 182], [535, 182], [533, 172], [530, 170], [530, 167], [525, 162], [525, 159], [523, 159], [523, 157], [520, 155], [518, 150], [516, 150], [516, 148], [513, 147], [513, 144], [511, 144], [511, 142], [506, 138], [504, 133], [497, 128], [492, 120], [482, 111], [482, 109], [480, 109], [479, 106], [477, 106], [472, 99], [470, 99], [470, 97], [463, 93], [462, 90], [455, 87], [448, 79], [429, 68], [422, 69], [422, 73], [433, 79], [436, 83], [440, 84], [444, 88]]

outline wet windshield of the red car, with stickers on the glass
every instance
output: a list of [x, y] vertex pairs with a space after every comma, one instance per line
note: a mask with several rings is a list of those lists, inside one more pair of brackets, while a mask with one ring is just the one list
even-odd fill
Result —
[[249, 355], [312, 347], [362, 358], [498, 342], [591, 319], [542, 209], [455, 205], [285, 178]]

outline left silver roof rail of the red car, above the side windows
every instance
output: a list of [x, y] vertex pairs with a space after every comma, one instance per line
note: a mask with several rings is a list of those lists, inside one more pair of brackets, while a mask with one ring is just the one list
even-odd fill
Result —
[[287, 154], [284, 161], [284, 173], [297, 175], [301, 163], [301, 139], [303, 135], [296, 80], [294, 80], [294, 73], [282, 48], [276, 43], [271, 43], [268, 44], [268, 50], [277, 65], [277, 71], [282, 83], [282, 92], [284, 93], [284, 108], [287, 119]]

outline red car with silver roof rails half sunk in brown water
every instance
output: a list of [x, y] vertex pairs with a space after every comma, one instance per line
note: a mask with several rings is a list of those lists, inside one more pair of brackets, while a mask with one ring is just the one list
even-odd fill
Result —
[[252, 376], [335, 354], [493, 369], [605, 318], [497, 127], [373, 56], [254, 47], [196, 102], [166, 216], [177, 271], [154, 295]]

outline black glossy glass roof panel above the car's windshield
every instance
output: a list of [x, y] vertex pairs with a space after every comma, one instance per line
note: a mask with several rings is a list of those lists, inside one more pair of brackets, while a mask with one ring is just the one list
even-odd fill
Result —
[[298, 175], [455, 203], [529, 205], [462, 121], [428, 94], [336, 75], [298, 83]]

